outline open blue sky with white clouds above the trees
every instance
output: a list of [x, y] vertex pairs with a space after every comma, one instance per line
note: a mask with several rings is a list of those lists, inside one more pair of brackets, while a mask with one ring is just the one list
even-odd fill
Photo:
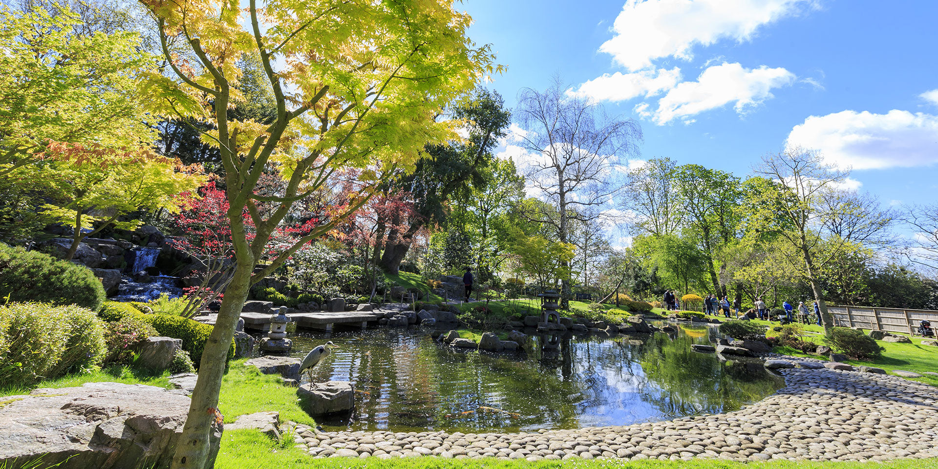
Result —
[[938, 2], [466, 0], [461, 8], [475, 20], [470, 37], [491, 43], [507, 66], [492, 88], [511, 107], [520, 89], [543, 89], [560, 74], [571, 92], [639, 120], [643, 159], [743, 176], [791, 139], [853, 167], [855, 186], [884, 204], [936, 200]]

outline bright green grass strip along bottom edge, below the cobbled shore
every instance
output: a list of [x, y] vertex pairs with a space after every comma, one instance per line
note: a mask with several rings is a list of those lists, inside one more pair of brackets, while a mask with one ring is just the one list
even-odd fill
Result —
[[[286, 446], [286, 447], [284, 447]], [[938, 460], [898, 460], [877, 462], [767, 461], [499, 461], [446, 460], [434, 457], [379, 460], [377, 458], [325, 458], [315, 460], [292, 445], [280, 445], [259, 431], [225, 431], [221, 437], [216, 469], [934, 469]]]

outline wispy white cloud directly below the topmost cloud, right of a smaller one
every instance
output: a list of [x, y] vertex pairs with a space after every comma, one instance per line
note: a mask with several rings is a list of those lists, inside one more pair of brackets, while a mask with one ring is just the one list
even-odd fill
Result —
[[703, 70], [696, 82], [680, 83], [659, 99], [655, 123], [663, 125], [678, 118], [687, 123], [691, 115], [731, 102], [734, 102], [737, 113], [744, 113], [772, 98], [772, 88], [792, 83], [794, 73], [785, 68], [762, 66], [750, 69], [738, 63], [720, 64]]

